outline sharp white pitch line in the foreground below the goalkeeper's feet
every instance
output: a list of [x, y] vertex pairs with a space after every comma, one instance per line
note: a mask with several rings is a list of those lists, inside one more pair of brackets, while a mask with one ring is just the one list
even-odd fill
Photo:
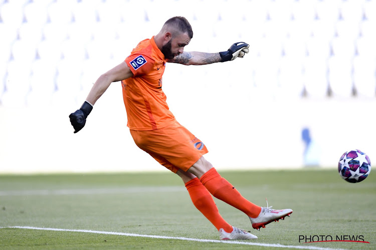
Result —
[[266, 247], [296, 248], [296, 249], [310, 249], [310, 250], [345, 250], [341, 248], [326, 248], [326, 247], [317, 247], [317, 246], [267, 244], [267, 243], [256, 243], [256, 242], [235, 241], [235, 240], [171, 237], [171, 236], [147, 235], [147, 234], [137, 234], [137, 233], [127, 233], [127, 232], [110, 232], [110, 231], [82, 230], [82, 229], [63, 229], [63, 228], [47, 228], [47, 227], [33, 227], [33, 226], [7, 226], [7, 227], [0, 227], [0, 229], [1, 228], [23, 228], [23, 229], [48, 230], [48, 231], [90, 232], [90, 233], [99, 233], [99, 234], [112, 234], [112, 235], [146, 237], [146, 238], [179, 239], [179, 240], [199, 241], [199, 242], [258, 245], [258, 246], [266, 246]]

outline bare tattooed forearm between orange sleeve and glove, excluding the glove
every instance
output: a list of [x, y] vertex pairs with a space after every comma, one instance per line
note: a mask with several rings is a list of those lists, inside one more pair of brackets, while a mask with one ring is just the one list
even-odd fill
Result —
[[206, 52], [182, 52], [176, 55], [168, 62], [181, 63], [184, 65], [204, 65], [214, 62], [220, 62], [222, 60], [220, 53], [206, 53]]

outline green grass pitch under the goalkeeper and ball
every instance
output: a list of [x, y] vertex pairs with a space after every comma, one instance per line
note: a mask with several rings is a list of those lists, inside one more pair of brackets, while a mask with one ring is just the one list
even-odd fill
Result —
[[[252, 202], [266, 206], [267, 198], [273, 208], [292, 208], [293, 213], [257, 231], [245, 214], [215, 198], [230, 224], [259, 237], [239, 241], [260, 245], [15, 228], [219, 239], [180, 178], [168, 171], [0, 175], [0, 249], [376, 249], [375, 173], [353, 184], [334, 168], [219, 172]], [[330, 235], [333, 240], [357, 236], [370, 243], [300, 239], [314, 235], [325, 238], [313, 241]]]

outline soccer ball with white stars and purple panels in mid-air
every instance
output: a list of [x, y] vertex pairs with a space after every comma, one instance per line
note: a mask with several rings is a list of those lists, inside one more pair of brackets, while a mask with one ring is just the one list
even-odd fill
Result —
[[348, 182], [360, 182], [368, 176], [370, 171], [371, 161], [368, 155], [359, 149], [346, 151], [339, 158], [339, 175]]

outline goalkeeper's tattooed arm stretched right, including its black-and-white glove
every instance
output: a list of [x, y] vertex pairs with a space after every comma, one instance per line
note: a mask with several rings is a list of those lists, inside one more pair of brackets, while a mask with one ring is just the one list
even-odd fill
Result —
[[168, 62], [181, 63], [184, 65], [204, 65], [214, 62], [224, 62], [229, 60], [234, 60], [237, 57], [243, 57], [249, 52], [249, 45], [245, 42], [236, 42], [231, 45], [227, 51], [222, 51], [218, 53], [206, 53], [206, 52], [182, 52], [176, 55], [172, 59], [167, 60]]

